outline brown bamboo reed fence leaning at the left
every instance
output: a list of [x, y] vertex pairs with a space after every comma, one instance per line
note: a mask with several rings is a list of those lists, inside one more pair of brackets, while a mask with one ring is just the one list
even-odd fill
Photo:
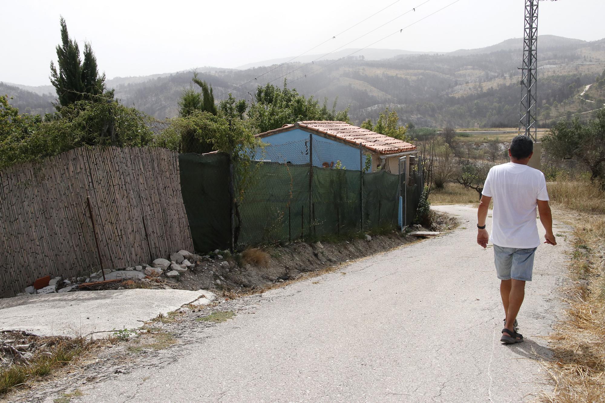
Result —
[[45, 275], [88, 277], [192, 248], [174, 151], [78, 148], [0, 172], [1, 297]]

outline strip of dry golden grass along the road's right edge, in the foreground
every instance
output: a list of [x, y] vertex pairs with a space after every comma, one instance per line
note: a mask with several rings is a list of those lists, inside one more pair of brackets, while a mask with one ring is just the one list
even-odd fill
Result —
[[574, 231], [569, 265], [576, 284], [566, 300], [566, 318], [548, 337], [552, 361], [544, 361], [555, 384], [543, 402], [605, 402], [605, 268], [597, 266], [595, 248], [603, 243], [603, 217], [585, 219]]

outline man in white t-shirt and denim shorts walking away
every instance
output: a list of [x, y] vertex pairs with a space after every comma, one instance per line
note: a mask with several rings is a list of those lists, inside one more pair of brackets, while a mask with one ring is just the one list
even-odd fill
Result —
[[500, 339], [505, 343], [523, 341], [523, 335], [517, 333], [516, 319], [525, 297], [525, 281], [532, 278], [535, 250], [540, 245], [535, 222], [536, 206], [546, 230], [545, 243], [557, 244], [552, 235], [552, 215], [544, 174], [528, 166], [533, 150], [534, 143], [528, 136], [512, 139], [508, 150], [511, 162], [489, 170], [477, 212], [477, 243], [485, 248], [489, 242], [485, 219], [489, 202], [494, 200], [491, 241], [506, 315]]

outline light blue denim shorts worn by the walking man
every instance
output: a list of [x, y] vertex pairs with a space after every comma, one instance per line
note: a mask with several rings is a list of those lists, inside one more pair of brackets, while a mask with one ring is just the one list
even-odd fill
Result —
[[537, 248], [502, 247], [494, 245], [495, 271], [500, 280], [531, 281]]

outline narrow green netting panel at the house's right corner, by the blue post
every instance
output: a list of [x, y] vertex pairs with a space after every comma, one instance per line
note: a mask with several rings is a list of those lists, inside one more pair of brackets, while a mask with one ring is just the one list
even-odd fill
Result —
[[364, 175], [364, 229], [397, 224], [399, 175], [386, 171]]

